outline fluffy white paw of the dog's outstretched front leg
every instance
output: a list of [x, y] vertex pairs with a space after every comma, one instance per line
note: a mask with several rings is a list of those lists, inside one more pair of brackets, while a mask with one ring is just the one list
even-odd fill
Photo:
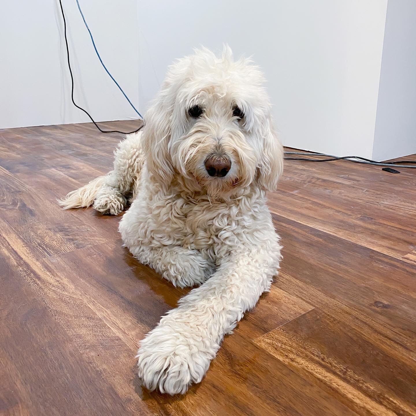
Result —
[[201, 335], [159, 325], [142, 341], [137, 366], [142, 384], [150, 391], [184, 394], [199, 383], [218, 349]]

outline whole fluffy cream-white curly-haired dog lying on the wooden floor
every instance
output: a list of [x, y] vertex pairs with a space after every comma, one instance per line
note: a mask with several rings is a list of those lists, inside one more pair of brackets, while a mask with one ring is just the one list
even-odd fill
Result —
[[196, 286], [141, 342], [149, 390], [199, 383], [225, 334], [269, 290], [280, 261], [266, 205], [283, 158], [264, 78], [248, 59], [206, 49], [179, 59], [114, 169], [61, 201], [118, 214], [124, 245], [175, 286]]

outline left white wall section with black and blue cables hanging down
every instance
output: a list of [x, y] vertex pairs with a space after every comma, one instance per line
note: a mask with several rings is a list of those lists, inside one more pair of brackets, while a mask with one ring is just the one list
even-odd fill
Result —
[[[136, 104], [137, 1], [79, 2], [104, 64]], [[99, 63], [75, 0], [62, 3], [75, 101], [96, 121], [138, 118]], [[0, 128], [89, 121], [71, 102], [63, 33], [58, 0], [2, 2]]]

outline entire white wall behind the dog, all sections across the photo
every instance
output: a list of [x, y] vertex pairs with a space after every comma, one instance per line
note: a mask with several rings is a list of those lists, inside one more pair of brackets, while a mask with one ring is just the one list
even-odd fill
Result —
[[[79, 1], [142, 114], [175, 58], [227, 42], [263, 68], [285, 145], [377, 159], [416, 152], [414, 0]], [[97, 121], [137, 118], [75, 0], [63, 3], [76, 101]], [[89, 121], [70, 100], [58, 0], [5, 2], [0, 39], [0, 128]]]

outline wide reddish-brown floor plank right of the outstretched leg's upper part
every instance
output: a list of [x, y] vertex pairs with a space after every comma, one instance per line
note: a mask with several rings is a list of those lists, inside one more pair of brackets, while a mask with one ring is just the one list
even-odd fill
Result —
[[[276, 217], [285, 240], [277, 286], [416, 358], [414, 265]], [[322, 244], [325, 251], [322, 251]], [[353, 324], [354, 322], [354, 324]]]

